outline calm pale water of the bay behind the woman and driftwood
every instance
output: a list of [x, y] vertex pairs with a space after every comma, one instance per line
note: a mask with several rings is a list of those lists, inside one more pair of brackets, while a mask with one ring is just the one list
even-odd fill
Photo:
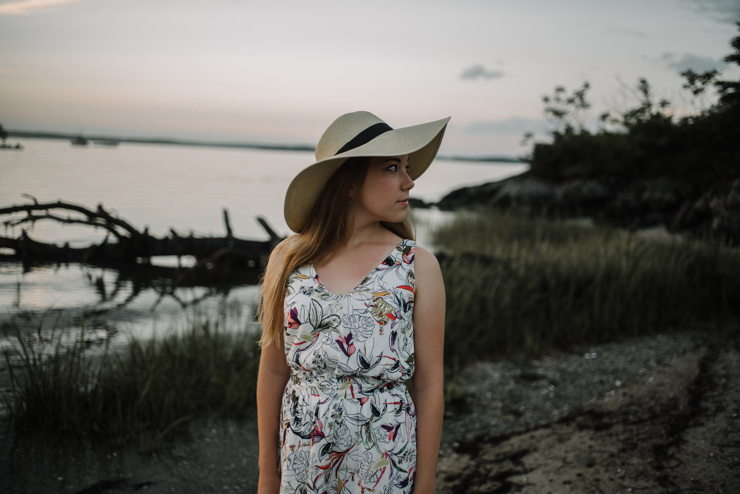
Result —
[[[13, 142], [16, 140], [14, 139]], [[121, 143], [118, 147], [75, 147], [68, 141], [20, 139], [22, 152], [0, 152], [0, 207], [26, 200], [61, 199], [95, 208], [103, 203], [129, 223], [156, 235], [174, 228], [182, 233], [225, 233], [221, 209], [229, 209], [234, 234], [266, 240], [255, 221], [266, 218], [279, 234], [290, 231], [283, 220], [283, 197], [292, 177], [314, 161], [312, 152], [260, 149], [220, 149], [189, 146]], [[524, 171], [525, 165], [465, 163], [436, 160], [411, 191], [411, 197], [436, 201], [460, 186], [500, 180]], [[419, 243], [426, 233], [448, 217], [435, 210], [416, 210]], [[7, 230], [5, 234], [19, 234]], [[85, 246], [99, 242], [103, 231], [84, 226], [38, 223], [31, 237], [47, 242]], [[172, 265], [175, 260], [155, 259]], [[185, 309], [208, 311], [229, 302], [243, 305], [246, 320], [257, 294], [251, 285], [215, 288], [178, 288], [161, 294], [145, 288], [135, 297], [133, 282], [118, 271], [87, 265], [48, 265], [23, 272], [16, 262], [0, 261], [0, 324], [10, 317], [30, 328], [50, 307], [64, 309], [74, 325], [81, 311], [95, 309], [87, 325], [103, 337], [110, 331], [149, 334], [184, 317]], [[47, 325], [53, 323], [49, 319]]]

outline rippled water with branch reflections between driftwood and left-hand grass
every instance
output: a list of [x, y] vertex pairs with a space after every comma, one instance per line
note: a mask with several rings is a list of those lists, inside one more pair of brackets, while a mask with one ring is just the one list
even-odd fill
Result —
[[1, 262], [0, 306], [8, 309], [0, 314], [3, 334], [10, 336], [13, 319], [25, 331], [84, 325], [88, 331], [147, 337], [155, 328], [178, 325], [187, 308], [209, 311], [234, 301], [245, 312], [254, 311], [258, 294], [254, 284], [172, 289], [172, 279], [156, 277], [152, 271], [118, 271], [79, 263], [24, 269], [20, 261]]

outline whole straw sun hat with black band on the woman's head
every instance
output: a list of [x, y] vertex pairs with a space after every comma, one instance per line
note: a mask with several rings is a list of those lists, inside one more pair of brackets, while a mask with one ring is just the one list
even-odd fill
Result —
[[449, 117], [393, 129], [370, 112], [345, 113], [326, 129], [316, 146], [316, 163], [296, 175], [285, 194], [285, 221], [300, 233], [326, 182], [347, 158], [408, 155], [408, 175], [416, 180], [440, 149]]

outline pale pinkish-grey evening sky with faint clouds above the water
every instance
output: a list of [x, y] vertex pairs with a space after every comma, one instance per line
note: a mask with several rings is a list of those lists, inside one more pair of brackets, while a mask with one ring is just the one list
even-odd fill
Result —
[[440, 154], [519, 155], [557, 84], [590, 81], [594, 116], [642, 76], [685, 106], [678, 72], [724, 67], [737, 18], [740, 0], [0, 0], [0, 123], [315, 144], [364, 109], [451, 115]]

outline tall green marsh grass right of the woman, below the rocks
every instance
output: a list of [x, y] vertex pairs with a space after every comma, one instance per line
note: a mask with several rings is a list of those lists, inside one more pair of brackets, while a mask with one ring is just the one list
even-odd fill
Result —
[[434, 231], [447, 292], [445, 361], [535, 356], [740, 307], [740, 252], [599, 226], [480, 211]]

